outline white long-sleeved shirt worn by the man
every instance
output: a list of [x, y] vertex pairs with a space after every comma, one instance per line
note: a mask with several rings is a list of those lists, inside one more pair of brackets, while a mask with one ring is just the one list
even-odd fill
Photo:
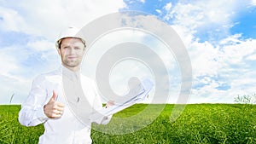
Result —
[[[66, 89], [63, 89], [63, 79], [68, 79], [70, 83], [75, 84], [77, 83], [77, 78], [81, 79], [81, 86], [85, 96], [83, 101], [86, 101], [90, 105], [84, 106], [86, 109], [84, 113], [75, 112], [76, 110], [71, 106], [75, 104], [67, 100], [67, 95], [68, 98], [72, 97], [66, 93]], [[69, 84], [71, 86], [70, 89], [73, 88], [73, 84]], [[56, 101], [64, 104], [64, 111], [61, 118], [48, 118], [44, 114], [44, 105], [52, 97], [53, 90], [58, 95]], [[79, 93], [73, 94], [74, 100], [78, 102], [78, 106], [79, 96], [81, 96]], [[89, 107], [90, 110], [87, 111]], [[80, 72], [72, 72], [61, 66], [54, 72], [42, 74], [34, 79], [31, 92], [26, 98], [26, 101], [21, 105], [19, 121], [20, 124], [25, 126], [44, 124], [44, 135], [40, 136], [38, 143], [85, 144], [91, 143], [91, 123], [108, 124], [111, 119], [111, 116], [109, 116], [91, 121], [90, 115], [100, 108], [102, 108], [102, 101], [96, 91], [95, 82], [90, 80], [90, 78], [84, 77]]]

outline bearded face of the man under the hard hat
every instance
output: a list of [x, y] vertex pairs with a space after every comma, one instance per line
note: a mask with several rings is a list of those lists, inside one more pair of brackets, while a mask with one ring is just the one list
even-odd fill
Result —
[[79, 38], [62, 39], [61, 47], [58, 49], [62, 65], [73, 71], [79, 70], [84, 56], [84, 49], [84, 43]]

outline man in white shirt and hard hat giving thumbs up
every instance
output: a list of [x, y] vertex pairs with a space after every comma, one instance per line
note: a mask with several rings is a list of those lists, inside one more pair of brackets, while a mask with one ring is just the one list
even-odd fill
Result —
[[[91, 143], [90, 124], [108, 124], [111, 116], [91, 119], [102, 108], [96, 84], [80, 74], [85, 40], [69, 27], [56, 42], [61, 67], [35, 78], [19, 113], [20, 124], [44, 124], [39, 143]], [[107, 107], [113, 105], [108, 102]]]

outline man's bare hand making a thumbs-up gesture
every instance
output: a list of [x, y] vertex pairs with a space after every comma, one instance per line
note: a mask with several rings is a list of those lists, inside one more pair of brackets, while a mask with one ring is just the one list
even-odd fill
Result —
[[48, 118], [61, 118], [64, 105], [61, 102], [56, 101], [56, 98], [57, 94], [54, 90], [49, 102], [44, 105], [44, 113]]

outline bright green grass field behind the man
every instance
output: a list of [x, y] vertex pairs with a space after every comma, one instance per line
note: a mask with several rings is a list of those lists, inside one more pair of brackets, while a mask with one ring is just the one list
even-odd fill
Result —
[[[173, 107], [146, 104], [129, 107], [116, 113], [110, 124], [93, 125], [93, 143], [256, 143], [255, 105], [190, 104], [179, 117], [175, 112], [171, 115]], [[43, 125], [21, 126], [19, 110], [18, 105], [0, 106], [0, 143], [38, 143]], [[148, 120], [152, 123], [143, 126]], [[104, 130], [108, 133], [101, 132]], [[113, 135], [123, 131], [131, 133]]]

